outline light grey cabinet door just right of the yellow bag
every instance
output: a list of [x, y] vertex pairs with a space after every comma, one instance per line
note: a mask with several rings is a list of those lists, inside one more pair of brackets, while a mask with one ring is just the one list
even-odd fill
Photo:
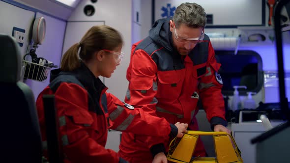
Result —
[[234, 140], [241, 151], [244, 163], [256, 163], [256, 144], [251, 139], [263, 132], [234, 132]]

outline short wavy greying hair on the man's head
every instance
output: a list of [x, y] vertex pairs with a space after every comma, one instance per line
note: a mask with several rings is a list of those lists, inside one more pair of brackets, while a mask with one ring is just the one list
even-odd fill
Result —
[[201, 5], [186, 2], [176, 8], [173, 21], [176, 27], [179, 27], [181, 24], [187, 27], [204, 27], [206, 24], [206, 14]]

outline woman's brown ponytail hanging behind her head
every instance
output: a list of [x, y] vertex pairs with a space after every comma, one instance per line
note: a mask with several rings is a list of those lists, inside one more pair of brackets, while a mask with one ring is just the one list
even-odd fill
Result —
[[63, 54], [60, 63], [61, 71], [73, 71], [81, 66], [80, 59], [78, 56], [79, 48], [80, 44], [78, 43], [74, 44]]

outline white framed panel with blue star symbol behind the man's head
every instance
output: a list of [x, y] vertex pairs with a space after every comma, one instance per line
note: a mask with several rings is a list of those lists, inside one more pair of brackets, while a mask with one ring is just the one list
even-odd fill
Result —
[[203, 6], [206, 14], [213, 14], [213, 25], [261, 25], [262, 22], [262, 0], [155, 0], [155, 20], [162, 18], [165, 12], [162, 7], [170, 12], [184, 2]]

